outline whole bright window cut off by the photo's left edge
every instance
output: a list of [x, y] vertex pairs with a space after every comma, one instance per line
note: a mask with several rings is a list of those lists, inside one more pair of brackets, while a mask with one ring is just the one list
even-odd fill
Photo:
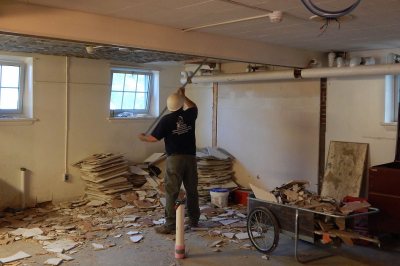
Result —
[[13, 117], [23, 112], [25, 65], [0, 60], [0, 116]]

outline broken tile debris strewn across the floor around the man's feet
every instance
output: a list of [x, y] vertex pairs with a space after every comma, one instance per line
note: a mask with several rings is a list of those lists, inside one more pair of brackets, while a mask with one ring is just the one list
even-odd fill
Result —
[[[3, 229], [0, 246], [35, 241], [44, 251], [36, 254], [20, 251], [0, 260], [25, 259], [31, 263], [42, 260], [41, 264], [59, 265], [73, 260], [73, 255], [84, 249], [97, 251], [118, 246], [119, 238], [139, 245], [149, 227], [165, 223], [164, 208], [159, 204], [157, 192], [150, 187], [146, 183], [141, 189], [122, 193], [110, 202], [80, 198], [57, 205], [41, 204], [24, 211], [9, 210], [0, 217]], [[221, 245], [215, 245], [219, 249], [226, 242], [240, 243], [248, 238], [246, 209], [201, 206], [200, 227], [196, 229], [203, 236], [223, 238]]]

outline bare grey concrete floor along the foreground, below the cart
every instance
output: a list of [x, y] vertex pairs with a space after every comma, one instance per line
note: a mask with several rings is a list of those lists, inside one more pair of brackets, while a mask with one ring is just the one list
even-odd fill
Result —
[[[126, 233], [128, 229], [121, 229]], [[210, 237], [206, 232], [187, 232], [186, 250], [187, 258], [176, 260], [174, 258], [174, 241], [170, 235], [157, 235], [153, 228], [142, 230], [144, 239], [140, 243], [132, 243], [127, 235], [121, 238], [109, 236], [103, 239], [103, 243], [115, 243], [114, 247], [95, 251], [91, 243], [99, 243], [99, 240], [87, 242], [76, 248], [77, 253], [71, 255], [73, 261], [63, 262], [62, 265], [148, 265], [148, 266], [221, 266], [221, 265], [302, 265], [294, 258], [294, 241], [281, 234], [278, 247], [269, 256], [262, 258], [263, 254], [254, 249], [243, 249], [241, 246], [249, 241], [233, 243], [226, 241], [220, 249], [221, 252], [213, 251], [209, 247], [211, 243], [220, 239]], [[315, 254], [327, 250], [334, 256], [307, 265], [400, 265], [400, 241], [390, 239], [386, 247], [379, 249], [376, 246], [354, 246], [342, 245], [340, 248], [319, 247], [316, 245], [300, 242], [299, 252], [302, 254]], [[394, 242], [393, 242], [394, 241]], [[23, 250], [32, 255], [31, 258], [20, 261], [19, 265], [43, 265], [44, 261], [52, 257], [45, 254], [42, 246], [35, 241], [17, 241], [11, 245], [0, 248], [0, 257], [10, 256], [17, 251]]]

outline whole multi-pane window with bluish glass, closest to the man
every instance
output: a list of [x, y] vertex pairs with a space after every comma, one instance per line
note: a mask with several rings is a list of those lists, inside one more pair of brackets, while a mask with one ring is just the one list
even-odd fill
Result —
[[[111, 118], [141, 118], [153, 115], [158, 95], [158, 71], [111, 68]], [[154, 100], [154, 101], [153, 101]]]

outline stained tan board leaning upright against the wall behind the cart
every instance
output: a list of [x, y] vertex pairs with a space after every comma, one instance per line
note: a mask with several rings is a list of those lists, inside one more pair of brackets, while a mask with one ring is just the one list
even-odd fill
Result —
[[342, 201], [345, 196], [359, 197], [367, 152], [367, 143], [331, 141], [321, 196], [337, 201]]

